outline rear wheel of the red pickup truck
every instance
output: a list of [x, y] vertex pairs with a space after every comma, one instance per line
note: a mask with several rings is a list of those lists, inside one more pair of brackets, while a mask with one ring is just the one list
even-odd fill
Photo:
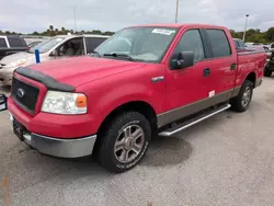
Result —
[[247, 111], [252, 100], [252, 94], [253, 83], [249, 80], [246, 80], [241, 87], [239, 94], [230, 101], [231, 108], [236, 112]]

